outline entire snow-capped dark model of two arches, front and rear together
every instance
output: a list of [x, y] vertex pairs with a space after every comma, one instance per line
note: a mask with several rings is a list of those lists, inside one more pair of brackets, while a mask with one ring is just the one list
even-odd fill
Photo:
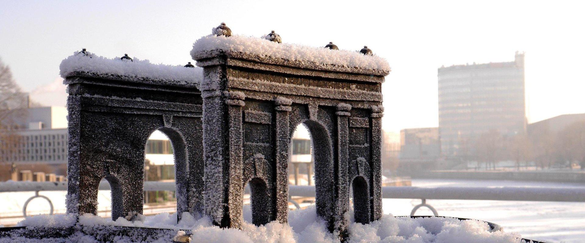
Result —
[[359, 52], [211, 35], [191, 51], [197, 66], [75, 54], [68, 84], [68, 213], [97, 213], [99, 181], [112, 187], [112, 218], [140, 219], [144, 145], [160, 130], [176, 163], [177, 211], [242, 226], [287, 222], [288, 157], [305, 124], [315, 151], [316, 212], [345, 233], [381, 217], [381, 83], [384, 59]]

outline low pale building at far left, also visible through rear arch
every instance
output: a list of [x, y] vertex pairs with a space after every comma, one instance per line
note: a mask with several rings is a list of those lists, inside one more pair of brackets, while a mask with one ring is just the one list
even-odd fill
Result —
[[[19, 129], [10, 139], [0, 139], [0, 163], [15, 164], [19, 170], [65, 175], [67, 171], [67, 109], [27, 108], [18, 119]], [[155, 131], [144, 148], [145, 159], [157, 171], [157, 178], [174, 179], [173, 149], [160, 131]], [[2, 174], [0, 179], [6, 179]]]

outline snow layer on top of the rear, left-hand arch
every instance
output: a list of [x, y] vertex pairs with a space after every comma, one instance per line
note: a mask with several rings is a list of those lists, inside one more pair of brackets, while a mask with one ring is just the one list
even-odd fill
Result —
[[87, 72], [195, 84], [201, 83], [203, 73], [203, 69], [197, 67], [151, 64], [149, 60], [138, 58], [133, 58], [133, 61], [121, 60], [119, 57], [109, 59], [93, 54], [83, 55], [77, 51], [63, 59], [59, 68], [62, 78], [67, 78], [74, 72]]

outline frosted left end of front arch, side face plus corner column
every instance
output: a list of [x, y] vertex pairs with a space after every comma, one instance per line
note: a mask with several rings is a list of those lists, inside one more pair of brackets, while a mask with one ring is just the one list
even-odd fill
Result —
[[242, 224], [242, 107], [245, 95], [227, 91], [225, 66], [205, 66], [203, 153], [205, 214], [220, 227]]

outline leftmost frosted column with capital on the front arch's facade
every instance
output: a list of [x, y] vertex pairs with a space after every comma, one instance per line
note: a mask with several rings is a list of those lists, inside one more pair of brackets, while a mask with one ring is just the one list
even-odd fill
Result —
[[[243, 161], [242, 161], [242, 107], [245, 105], [245, 95], [239, 91], [228, 92], [228, 146], [229, 167], [227, 180], [229, 225], [227, 227], [242, 227], [242, 201], [244, 194]], [[225, 217], [225, 216], [224, 216]]]

